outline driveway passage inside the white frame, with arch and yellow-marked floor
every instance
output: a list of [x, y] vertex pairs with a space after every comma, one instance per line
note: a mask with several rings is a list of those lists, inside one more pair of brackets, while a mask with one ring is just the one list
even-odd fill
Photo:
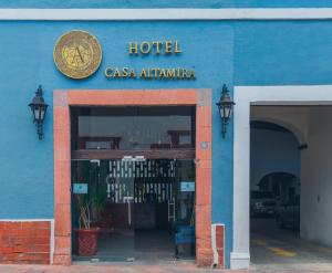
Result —
[[256, 105], [250, 115], [251, 266], [331, 271], [332, 107]]

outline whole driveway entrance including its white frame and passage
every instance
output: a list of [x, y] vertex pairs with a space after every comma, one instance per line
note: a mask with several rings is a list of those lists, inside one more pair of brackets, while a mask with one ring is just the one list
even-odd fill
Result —
[[[328, 182], [331, 177], [328, 145], [332, 114], [330, 92], [331, 86], [236, 88], [232, 269], [251, 265], [263, 271], [331, 271], [330, 199], [326, 199], [331, 193]], [[267, 137], [268, 134], [260, 138], [253, 133], [257, 129], [268, 130], [274, 139]], [[277, 139], [276, 135], [282, 137]], [[291, 148], [284, 148], [286, 139], [292, 139]], [[266, 148], [255, 149], [255, 141]], [[280, 143], [283, 144], [280, 146]], [[253, 164], [252, 157], [259, 154], [263, 156]], [[251, 177], [257, 170], [262, 170], [262, 166], [267, 167], [274, 156], [279, 162], [287, 162], [287, 169], [274, 164], [274, 168], [266, 168], [258, 179]], [[276, 183], [278, 187], [274, 188]], [[264, 198], [277, 196], [273, 201], [261, 200], [256, 206], [259, 209], [264, 207], [264, 213], [272, 212], [273, 217], [255, 219], [251, 213], [253, 219], [250, 222], [249, 208], [255, 201], [250, 198], [250, 188], [260, 193], [268, 190], [271, 196], [264, 195]], [[251, 192], [251, 196], [255, 195]], [[253, 212], [257, 216], [258, 211]]]

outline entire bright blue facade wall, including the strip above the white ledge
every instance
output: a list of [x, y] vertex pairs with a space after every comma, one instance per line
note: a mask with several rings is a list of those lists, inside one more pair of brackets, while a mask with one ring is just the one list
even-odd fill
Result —
[[[278, 3], [276, 3], [278, 2]], [[211, 222], [225, 224], [225, 266], [234, 251], [234, 132], [226, 138], [215, 103], [222, 84], [235, 86], [328, 85], [332, 82], [332, 23], [320, 20], [326, 0], [305, 1], [0, 1], [1, 13], [32, 9], [257, 9], [271, 11], [308, 8], [318, 19], [234, 20], [30, 20], [0, 19], [0, 219], [1, 221], [54, 219], [54, 90], [165, 90], [210, 88], [212, 91], [212, 191]], [[261, 10], [261, 12], [264, 11]], [[8, 10], [9, 11], [9, 10]], [[38, 11], [42, 15], [43, 10]], [[153, 12], [153, 11], [151, 11]], [[133, 13], [134, 14], [134, 13]], [[305, 17], [305, 14], [303, 15]], [[94, 34], [102, 46], [98, 71], [85, 80], [62, 75], [53, 62], [58, 39], [71, 30]], [[183, 53], [175, 56], [133, 56], [131, 41], [177, 40]], [[196, 71], [196, 80], [110, 80], [108, 66], [183, 66]], [[50, 105], [44, 120], [44, 138], [39, 140], [31, 122], [30, 103], [39, 84]], [[235, 113], [237, 106], [235, 106]]]

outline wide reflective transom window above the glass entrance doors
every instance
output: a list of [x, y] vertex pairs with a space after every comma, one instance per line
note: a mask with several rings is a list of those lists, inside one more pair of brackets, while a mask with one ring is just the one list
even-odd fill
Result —
[[73, 107], [72, 149], [195, 147], [195, 107]]

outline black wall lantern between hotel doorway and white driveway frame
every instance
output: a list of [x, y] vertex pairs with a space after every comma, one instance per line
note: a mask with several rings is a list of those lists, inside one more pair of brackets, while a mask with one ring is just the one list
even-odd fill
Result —
[[220, 113], [221, 117], [221, 134], [222, 138], [226, 136], [226, 127], [229, 123], [232, 107], [235, 103], [231, 101], [229, 95], [229, 90], [227, 88], [226, 84], [222, 85], [221, 97], [218, 103], [216, 103]]

